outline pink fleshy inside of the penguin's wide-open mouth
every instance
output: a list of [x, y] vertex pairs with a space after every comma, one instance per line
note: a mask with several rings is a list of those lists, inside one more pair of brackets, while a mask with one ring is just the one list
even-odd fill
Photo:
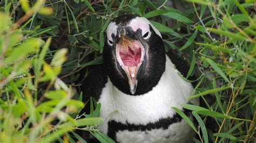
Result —
[[116, 54], [120, 66], [138, 67], [143, 61], [144, 48], [139, 41], [117, 44]]

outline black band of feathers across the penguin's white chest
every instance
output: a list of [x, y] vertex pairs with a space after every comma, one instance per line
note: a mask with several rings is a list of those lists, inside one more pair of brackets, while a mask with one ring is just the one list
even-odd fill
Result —
[[[191, 111], [187, 109], [183, 109], [183, 112], [185, 113], [186, 116], [190, 117], [191, 116]], [[159, 129], [163, 128], [166, 130], [171, 124], [177, 123], [181, 121], [181, 117], [176, 113], [173, 117], [168, 117], [164, 119], [159, 119], [158, 121], [154, 123], [149, 123], [146, 125], [134, 125], [127, 123], [123, 124], [114, 120], [110, 120], [107, 125], [108, 125], [108, 132], [107, 135], [116, 140], [116, 133], [118, 131], [151, 131], [153, 129]]]

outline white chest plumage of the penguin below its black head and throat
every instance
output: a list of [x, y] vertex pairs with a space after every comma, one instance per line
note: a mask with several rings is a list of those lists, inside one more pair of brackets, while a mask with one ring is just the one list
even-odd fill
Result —
[[[100, 126], [100, 130], [105, 134], [107, 133], [107, 122], [109, 120], [119, 121], [123, 124], [127, 121], [130, 124], [146, 125], [154, 123], [160, 118], [172, 117], [176, 112], [171, 107], [174, 106], [182, 109], [181, 104], [187, 103], [187, 97], [191, 95], [192, 90], [192, 85], [180, 77], [168, 57], [166, 57], [165, 72], [161, 76], [159, 83], [144, 95], [126, 95], [114, 87], [110, 80], [108, 80], [98, 101], [102, 104], [100, 116], [103, 118], [107, 117]], [[175, 128], [177, 127], [171, 126], [175, 126], [175, 124], [170, 125], [167, 130], [176, 130]], [[184, 126], [186, 125], [184, 124]], [[161, 134], [159, 130], [152, 131], [151, 134]], [[124, 131], [118, 133], [121, 136], [127, 135]], [[138, 134], [136, 132], [133, 133], [134, 135]], [[140, 135], [147, 137], [149, 133], [144, 135], [142, 133]]]

